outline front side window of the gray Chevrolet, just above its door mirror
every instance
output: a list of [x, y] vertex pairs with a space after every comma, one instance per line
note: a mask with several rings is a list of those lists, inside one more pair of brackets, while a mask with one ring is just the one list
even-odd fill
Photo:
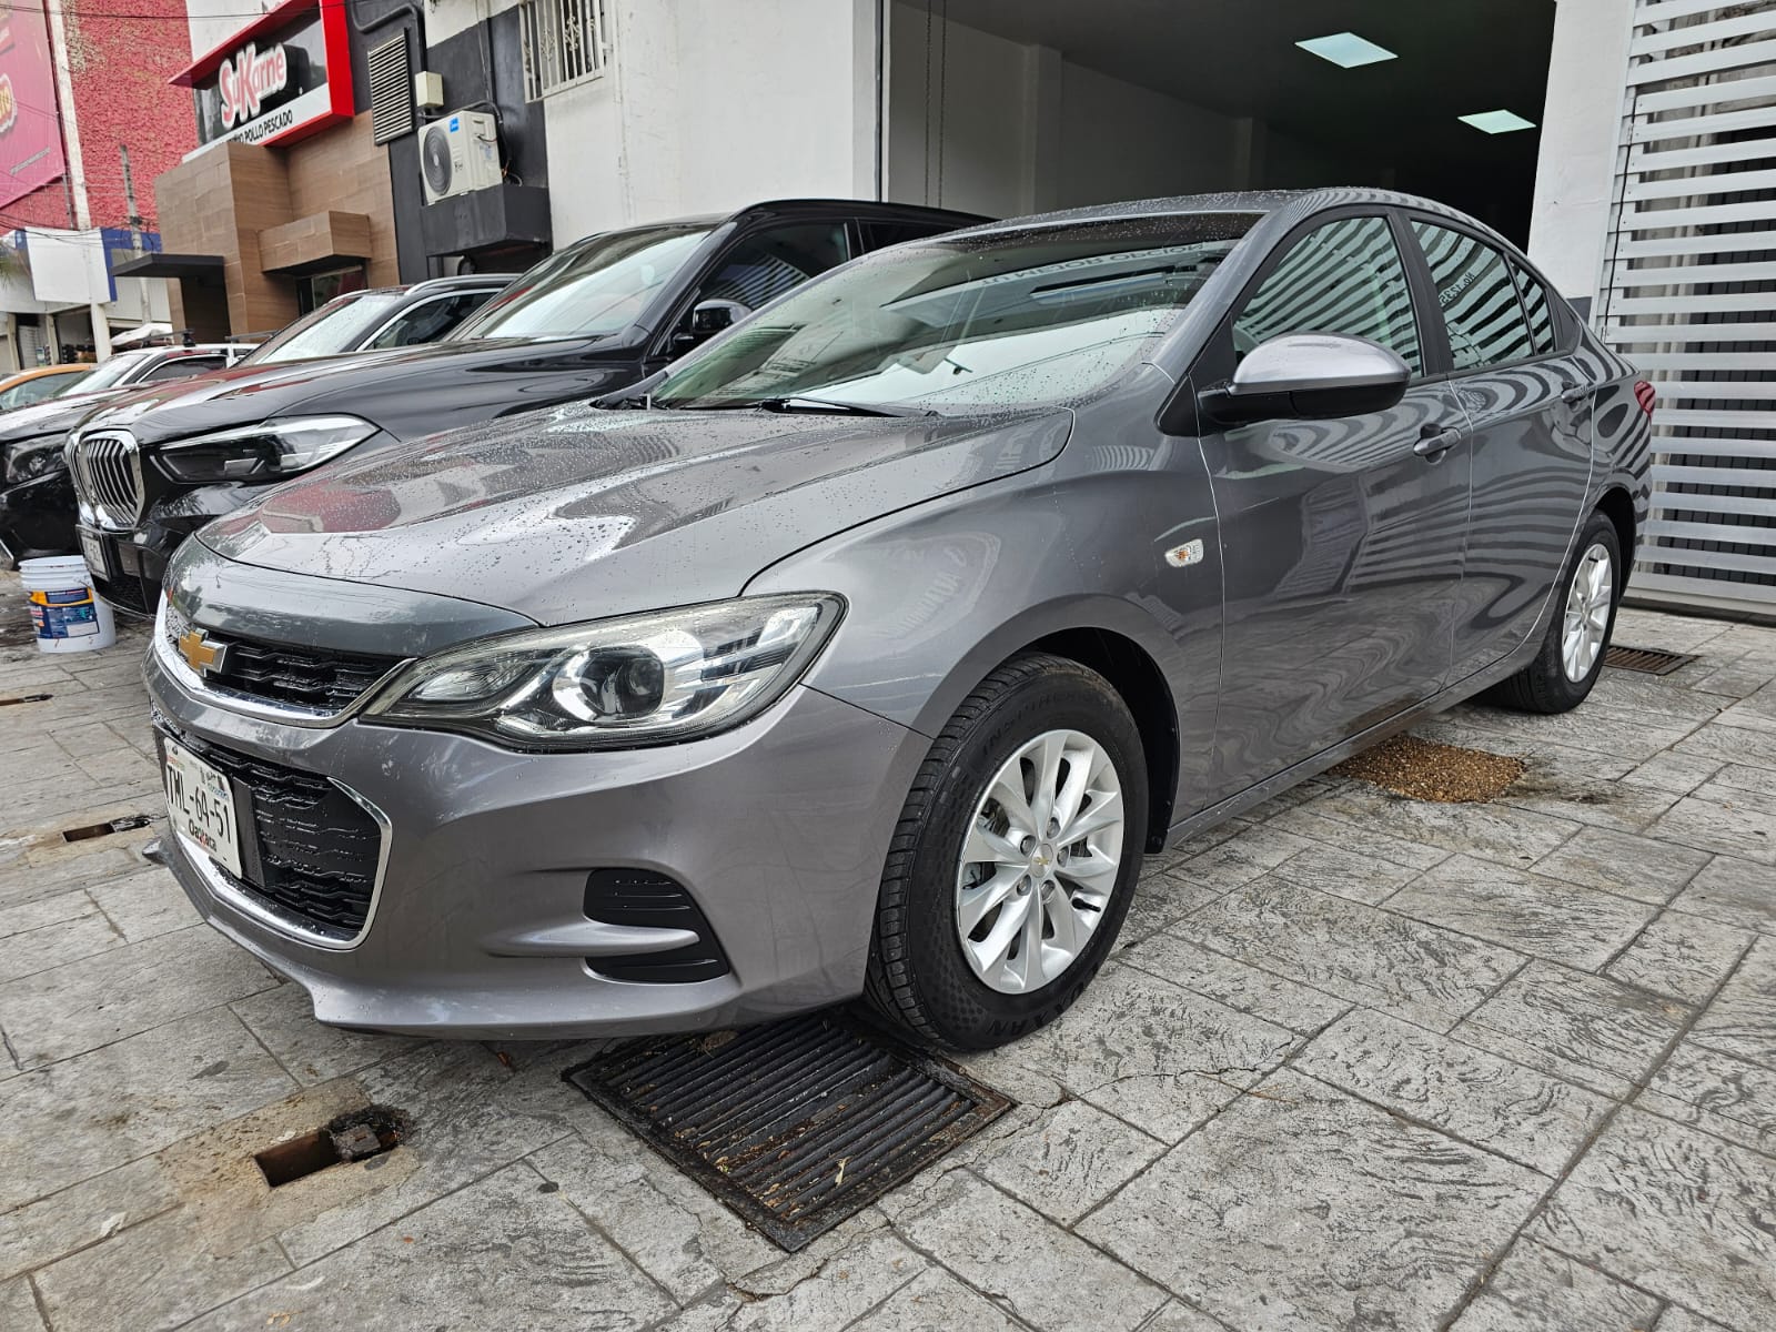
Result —
[[1346, 217], [1298, 240], [1234, 320], [1234, 353], [1295, 332], [1368, 337], [1414, 375], [1424, 369], [1412, 288], [1385, 218]]

